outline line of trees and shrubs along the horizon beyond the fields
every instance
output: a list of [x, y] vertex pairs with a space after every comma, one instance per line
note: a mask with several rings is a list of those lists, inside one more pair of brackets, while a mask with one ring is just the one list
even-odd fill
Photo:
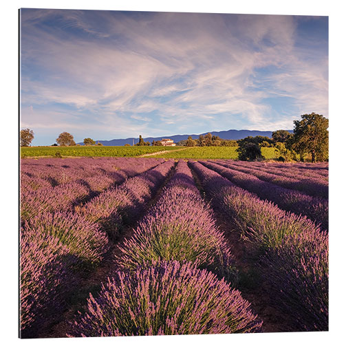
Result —
[[[312, 162], [328, 160], [328, 119], [322, 115], [304, 114], [301, 120], [294, 120], [294, 131], [290, 133], [286, 130], [272, 132], [272, 138], [268, 136], [248, 136], [241, 140], [224, 140], [211, 133], [200, 135], [197, 139], [191, 136], [187, 140], [178, 142], [178, 146], [186, 147], [237, 147], [239, 160], [263, 160], [261, 147], [275, 147], [277, 158], [281, 161], [300, 160], [305, 161], [308, 156]], [[34, 132], [30, 129], [22, 129], [20, 132], [21, 147], [29, 147], [34, 139]], [[86, 146], [100, 145], [100, 142], [85, 138], [83, 143]], [[74, 137], [71, 133], [63, 131], [56, 143], [52, 146], [75, 146]], [[136, 146], [149, 146], [149, 142], [144, 142], [140, 135]], [[130, 144], [125, 144], [130, 146]], [[153, 141], [152, 146], [162, 146], [161, 141]]]

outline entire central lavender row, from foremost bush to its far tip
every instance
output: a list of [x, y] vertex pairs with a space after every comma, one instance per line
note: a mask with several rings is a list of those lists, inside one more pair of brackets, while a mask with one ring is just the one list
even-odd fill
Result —
[[120, 271], [96, 299], [91, 294], [87, 312], [78, 316], [69, 336], [255, 332], [261, 327], [248, 301], [228, 282], [235, 278], [230, 248], [186, 162], [178, 162], [158, 202], [120, 252]]

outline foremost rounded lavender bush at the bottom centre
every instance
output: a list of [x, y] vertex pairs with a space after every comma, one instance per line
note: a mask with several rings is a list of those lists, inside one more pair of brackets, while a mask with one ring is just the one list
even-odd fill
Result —
[[256, 332], [240, 292], [191, 263], [163, 261], [109, 278], [69, 336], [142, 336]]

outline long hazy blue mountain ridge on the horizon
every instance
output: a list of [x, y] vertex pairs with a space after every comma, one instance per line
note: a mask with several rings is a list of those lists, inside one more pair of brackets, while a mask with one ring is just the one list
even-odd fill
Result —
[[[288, 130], [292, 133], [292, 130]], [[269, 138], [272, 137], [272, 131], [259, 131], [259, 130], [235, 130], [230, 129], [227, 131], [210, 131], [212, 135], [219, 136], [219, 138], [223, 138], [224, 140], [239, 140], [241, 138], [246, 138], [247, 136], [268, 136]], [[200, 135], [205, 135], [206, 133], [200, 134], [184, 134], [184, 135], [171, 135], [171, 136], [159, 136], [156, 138], [143, 138], [144, 141], [152, 142], [162, 140], [163, 138], [171, 138], [174, 142], [179, 142], [181, 140], [186, 140], [189, 136], [193, 139], [198, 138]], [[124, 146], [127, 144], [138, 143], [138, 138], [115, 138], [114, 140], [99, 140], [100, 143], [103, 143], [104, 146]], [[96, 140], [98, 142], [98, 140]], [[83, 144], [83, 142], [79, 142]]]

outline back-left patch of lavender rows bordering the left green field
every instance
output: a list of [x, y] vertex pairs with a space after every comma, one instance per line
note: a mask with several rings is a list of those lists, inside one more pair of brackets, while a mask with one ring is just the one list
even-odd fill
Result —
[[[97, 193], [164, 160], [142, 159], [140, 164], [137, 161], [128, 158], [24, 160], [21, 162], [21, 220], [46, 212], [72, 210]], [[55, 182], [49, 184], [48, 180], [52, 179]]]

